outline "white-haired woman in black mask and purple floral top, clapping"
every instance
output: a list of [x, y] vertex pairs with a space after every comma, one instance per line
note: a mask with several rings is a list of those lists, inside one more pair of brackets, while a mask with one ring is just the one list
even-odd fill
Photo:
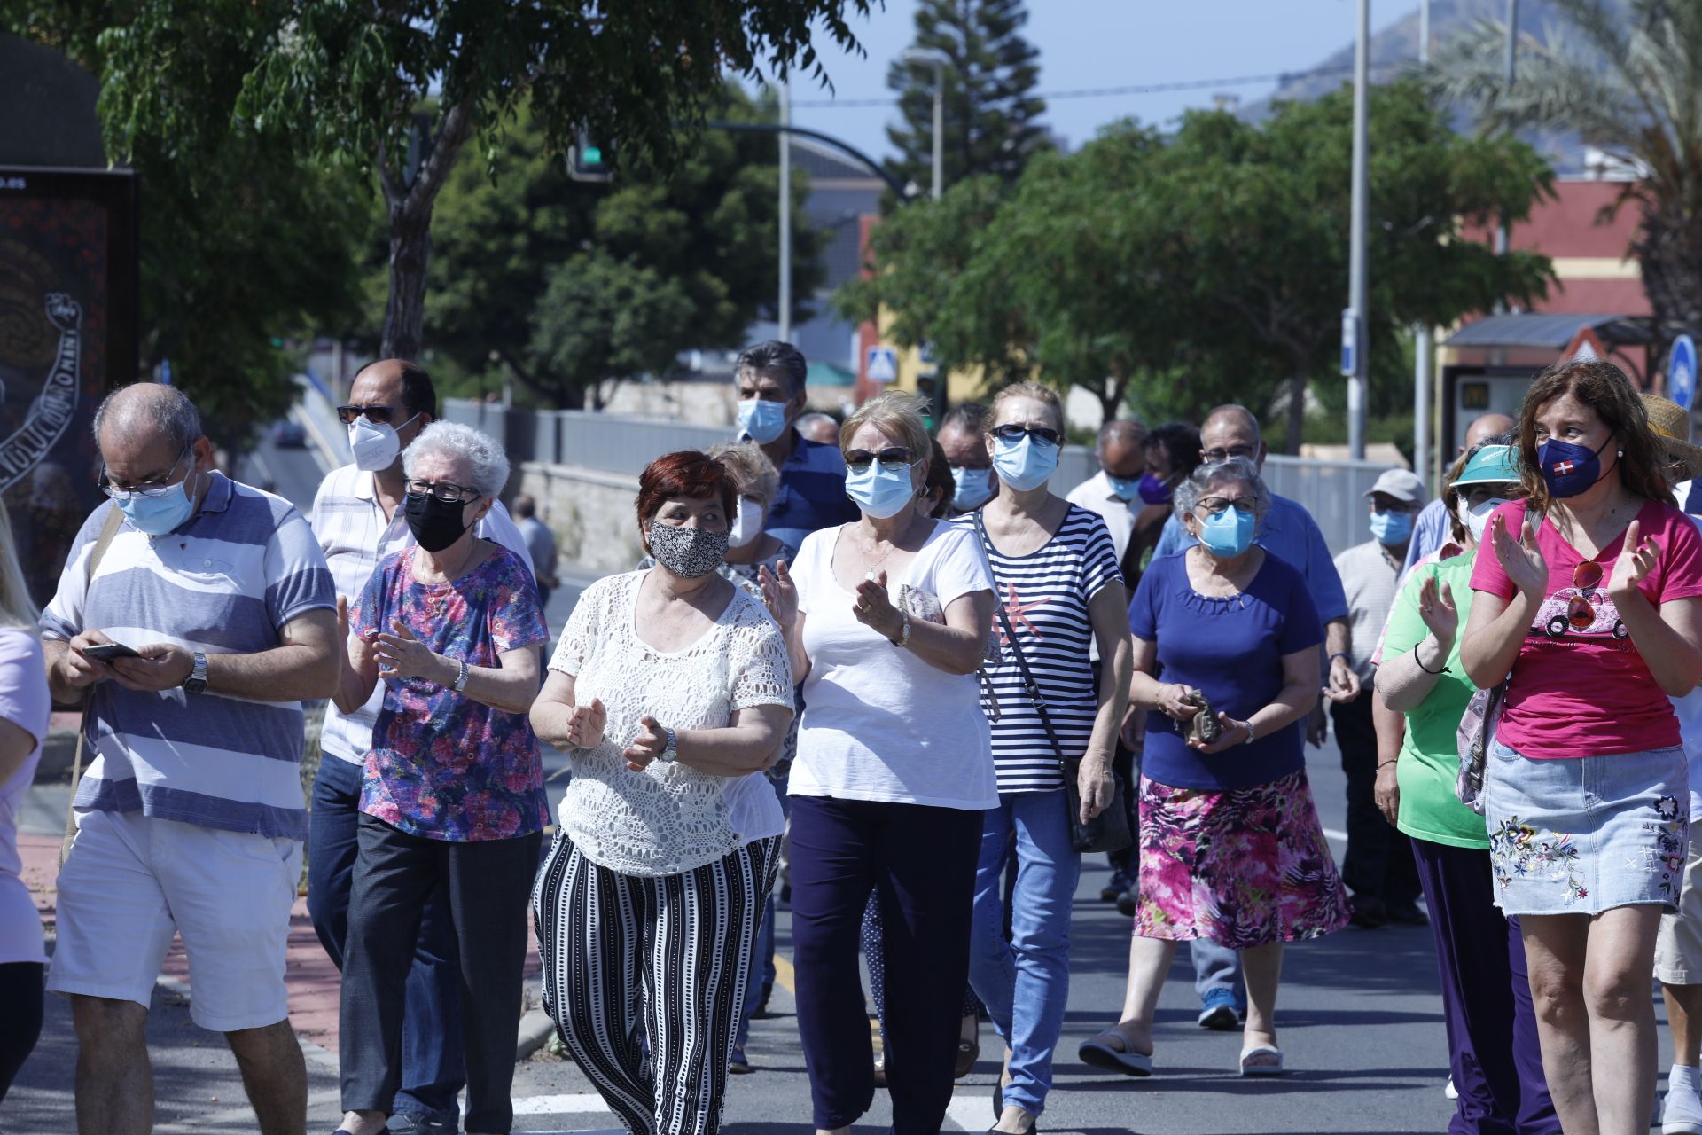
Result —
[[415, 548], [380, 562], [346, 616], [337, 706], [385, 682], [361, 786], [342, 968], [342, 1132], [380, 1135], [402, 1075], [403, 984], [444, 887], [461, 958], [466, 1130], [514, 1123], [514, 1007], [548, 807], [526, 716], [548, 638], [509, 550], [473, 536], [509, 476], [502, 449], [432, 422], [402, 454]]

